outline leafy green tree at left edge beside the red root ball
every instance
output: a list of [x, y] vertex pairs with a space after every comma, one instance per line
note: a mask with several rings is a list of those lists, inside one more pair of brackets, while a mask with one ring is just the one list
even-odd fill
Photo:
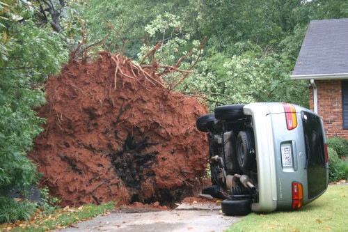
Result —
[[45, 102], [40, 83], [58, 72], [67, 56], [61, 37], [31, 20], [11, 29], [8, 61], [0, 67], [0, 187], [33, 182], [35, 166], [25, 152], [42, 131], [33, 107]]

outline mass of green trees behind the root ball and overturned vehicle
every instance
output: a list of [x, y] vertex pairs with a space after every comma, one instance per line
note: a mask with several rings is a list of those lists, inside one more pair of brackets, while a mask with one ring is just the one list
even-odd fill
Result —
[[[285, 101], [308, 107], [307, 83], [292, 81], [290, 74], [306, 26], [318, 14], [318, 4], [329, 8], [322, 6], [322, 1], [301, 0], [161, 3], [150, 0], [141, 3], [90, 0], [86, 17], [92, 38], [102, 38], [113, 25], [123, 40], [120, 41], [119, 35], [115, 34], [109, 41], [118, 43], [111, 50], [120, 52], [120, 43], [125, 42], [125, 54], [138, 61], [141, 57], [135, 56], [134, 49], [139, 50], [139, 47], [142, 47], [141, 54], [145, 54], [145, 48], [171, 38], [163, 41], [161, 53], [156, 53], [168, 60], [169, 57], [182, 56], [184, 49], [192, 49], [190, 44], [193, 41], [201, 41], [207, 36], [196, 69], [191, 70], [191, 75], [176, 89], [187, 94], [203, 94], [212, 108], [215, 105], [254, 101]], [[160, 26], [165, 28], [159, 17], [163, 20], [166, 14], [176, 17], [180, 26], [171, 27], [172, 22], [168, 22], [170, 29], [159, 33]], [[101, 18], [107, 22], [105, 26], [100, 26]], [[173, 29], [177, 31], [175, 39]], [[151, 33], [156, 30], [156, 33]], [[179, 34], [187, 38], [180, 38]], [[166, 52], [175, 46], [180, 47], [176, 56]], [[131, 52], [127, 52], [127, 47], [131, 48]], [[189, 63], [182, 62], [180, 67], [189, 67]], [[255, 88], [248, 88], [249, 83], [254, 83]]]

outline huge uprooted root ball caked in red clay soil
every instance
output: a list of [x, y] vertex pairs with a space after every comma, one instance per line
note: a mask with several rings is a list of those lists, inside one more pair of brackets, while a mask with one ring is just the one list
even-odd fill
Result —
[[195, 192], [209, 153], [196, 118], [207, 108], [144, 74], [104, 52], [47, 81], [47, 104], [38, 110], [47, 123], [29, 157], [62, 206], [173, 203]]

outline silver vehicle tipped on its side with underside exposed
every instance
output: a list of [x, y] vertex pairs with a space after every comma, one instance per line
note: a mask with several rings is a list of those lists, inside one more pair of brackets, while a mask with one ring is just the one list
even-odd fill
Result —
[[322, 119], [287, 103], [223, 105], [197, 119], [212, 186], [226, 215], [297, 209], [322, 195], [329, 158]]

